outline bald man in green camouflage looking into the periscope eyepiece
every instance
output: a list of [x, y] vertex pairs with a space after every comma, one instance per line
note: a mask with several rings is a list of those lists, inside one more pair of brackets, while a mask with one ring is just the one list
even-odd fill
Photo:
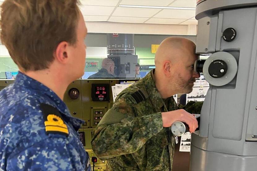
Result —
[[170, 126], [182, 121], [191, 133], [198, 127], [188, 112], [200, 113], [202, 102], [190, 102], [185, 111], [172, 97], [193, 90], [200, 77], [194, 72], [195, 60], [192, 41], [167, 38], [156, 52], [156, 69], [118, 95], [91, 142], [96, 156], [107, 160], [107, 170], [172, 170], [175, 137]]

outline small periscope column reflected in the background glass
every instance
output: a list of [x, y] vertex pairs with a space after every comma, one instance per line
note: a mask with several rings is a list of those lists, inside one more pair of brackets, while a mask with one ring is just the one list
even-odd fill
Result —
[[115, 76], [135, 78], [137, 55], [134, 55], [134, 34], [107, 33], [108, 58], [115, 63]]

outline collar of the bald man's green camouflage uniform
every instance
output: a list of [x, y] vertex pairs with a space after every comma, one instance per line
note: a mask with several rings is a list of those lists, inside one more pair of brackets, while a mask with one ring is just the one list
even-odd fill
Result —
[[152, 104], [155, 106], [156, 110], [159, 111], [160, 108], [164, 105], [163, 99], [161, 97], [161, 94], [157, 90], [155, 86], [155, 81], [153, 78], [153, 74], [155, 72], [155, 69], [151, 70], [146, 76], [145, 76], [145, 85], [147, 87], [146, 91], [149, 94], [150, 100], [152, 101]]

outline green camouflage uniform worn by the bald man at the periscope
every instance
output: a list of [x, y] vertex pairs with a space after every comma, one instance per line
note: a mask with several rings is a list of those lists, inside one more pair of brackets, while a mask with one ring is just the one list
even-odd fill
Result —
[[[107, 170], [172, 169], [175, 138], [170, 128], [163, 127], [161, 112], [178, 106], [173, 97], [163, 101], [151, 72], [122, 91], [95, 128], [92, 148], [101, 160], [108, 159]], [[138, 90], [148, 97], [138, 102], [134, 96]]]

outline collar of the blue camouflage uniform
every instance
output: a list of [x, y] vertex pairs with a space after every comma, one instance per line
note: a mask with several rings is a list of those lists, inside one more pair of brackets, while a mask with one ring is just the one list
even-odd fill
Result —
[[43, 85], [41, 82], [31, 77], [28, 77], [24, 73], [19, 72], [15, 80], [15, 85], [24, 87], [28, 90], [36, 91], [37, 95], [39, 96], [45, 94], [48, 97], [48, 99], [45, 99], [46, 103], [56, 107], [61, 113], [65, 115], [65, 117], [68, 117], [75, 129], [76, 127], [80, 127], [81, 123], [84, 123], [84, 121], [82, 121], [81, 119], [73, 118], [70, 115], [70, 112], [63, 100], [60, 99], [57, 94], [55, 94], [52, 90], [50, 90], [47, 86]]

